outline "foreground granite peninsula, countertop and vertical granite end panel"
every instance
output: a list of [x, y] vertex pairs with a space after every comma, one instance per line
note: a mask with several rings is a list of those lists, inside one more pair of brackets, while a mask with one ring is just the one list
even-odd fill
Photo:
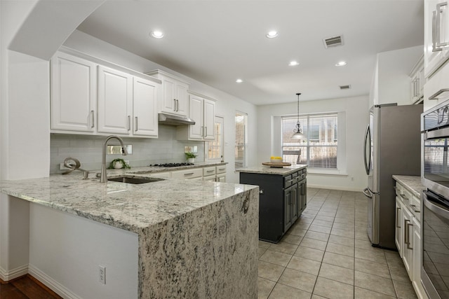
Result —
[[[176, 179], [137, 185], [81, 178], [72, 172], [1, 181], [0, 190], [49, 211], [136, 234], [138, 298], [257, 298], [257, 188]], [[109, 275], [107, 285], [120, 283]]]

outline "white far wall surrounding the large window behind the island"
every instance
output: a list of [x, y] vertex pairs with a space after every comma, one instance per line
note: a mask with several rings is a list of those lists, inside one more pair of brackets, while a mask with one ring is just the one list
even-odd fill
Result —
[[[341, 124], [339, 124], [340, 130], [344, 130], [345, 137], [341, 139], [339, 132], [338, 151], [344, 151], [343, 153], [347, 158], [342, 161], [342, 165], [339, 165], [340, 169], [333, 174], [317, 174], [315, 169], [309, 169], [307, 186], [355, 191], [366, 188], [367, 177], [363, 166], [363, 136], [366, 125], [368, 125], [368, 101], [368, 96], [361, 96], [300, 102], [300, 114], [339, 112], [345, 115], [346, 120], [344, 126], [340, 127]], [[290, 103], [257, 107], [258, 146], [256, 164], [267, 161], [271, 155], [279, 155], [279, 153], [272, 152], [276, 151], [276, 144], [280, 142], [280, 132], [274, 130], [274, 122], [279, 121], [280, 116], [295, 116], [296, 105], [296, 103]]]

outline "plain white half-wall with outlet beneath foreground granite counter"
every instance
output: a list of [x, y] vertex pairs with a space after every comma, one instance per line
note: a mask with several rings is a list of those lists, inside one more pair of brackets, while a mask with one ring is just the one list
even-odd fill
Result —
[[[29, 271], [63, 298], [138, 298], [138, 235], [30, 204]], [[106, 267], [106, 284], [99, 281]]]

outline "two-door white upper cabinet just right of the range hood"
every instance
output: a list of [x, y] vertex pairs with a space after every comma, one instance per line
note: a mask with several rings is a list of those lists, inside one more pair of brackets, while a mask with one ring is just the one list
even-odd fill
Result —
[[194, 125], [177, 127], [179, 140], [214, 140], [215, 100], [192, 93], [189, 95], [189, 118]]

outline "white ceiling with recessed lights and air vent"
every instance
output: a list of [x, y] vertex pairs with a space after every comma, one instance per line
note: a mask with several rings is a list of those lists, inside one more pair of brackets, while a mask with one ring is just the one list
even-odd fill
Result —
[[[296, 92], [301, 100], [368, 95], [377, 53], [423, 44], [423, 6], [422, 0], [109, 0], [78, 29], [262, 105], [295, 102]], [[154, 29], [164, 38], [150, 37]], [[279, 37], [267, 39], [272, 29]], [[336, 35], [344, 45], [326, 49], [323, 39]], [[290, 60], [300, 65], [288, 67]], [[335, 67], [340, 60], [347, 66]]]

